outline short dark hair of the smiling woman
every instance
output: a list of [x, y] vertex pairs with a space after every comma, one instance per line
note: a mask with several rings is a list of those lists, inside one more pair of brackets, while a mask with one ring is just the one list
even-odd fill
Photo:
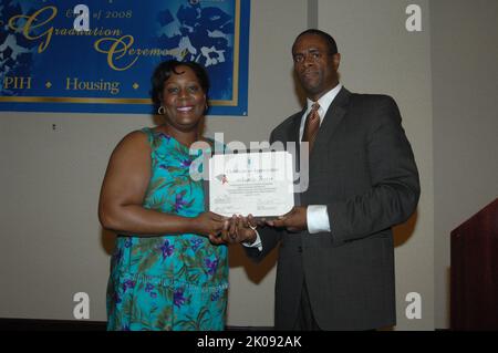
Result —
[[151, 91], [151, 97], [154, 102], [154, 104], [158, 107], [160, 106], [162, 96], [163, 96], [163, 90], [164, 90], [164, 83], [173, 75], [173, 74], [181, 74], [183, 71], [178, 69], [178, 66], [187, 66], [190, 68], [191, 71], [194, 71], [197, 80], [199, 80], [200, 87], [203, 89], [203, 92], [206, 94], [209, 90], [209, 79], [206, 73], [206, 70], [196, 62], [180, 62], [176, 60], [168, 60], [162, 62], [157, 68], [154, 70], [154, 74], [152, 76], [152, 91]]

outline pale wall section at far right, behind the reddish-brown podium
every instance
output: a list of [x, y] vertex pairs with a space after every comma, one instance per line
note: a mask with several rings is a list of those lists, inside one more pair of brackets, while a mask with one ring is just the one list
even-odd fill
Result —
[[498, 1], [430, 2], [436, 328], [449, 326], [449, 233], [498, 197]]

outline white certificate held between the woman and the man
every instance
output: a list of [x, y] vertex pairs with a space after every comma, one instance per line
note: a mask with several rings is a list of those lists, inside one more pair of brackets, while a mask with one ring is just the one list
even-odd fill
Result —
[[292, 155], [288, 152], [219, 154], [209, 159], [209, 210], [277, 217], [294, 206]]

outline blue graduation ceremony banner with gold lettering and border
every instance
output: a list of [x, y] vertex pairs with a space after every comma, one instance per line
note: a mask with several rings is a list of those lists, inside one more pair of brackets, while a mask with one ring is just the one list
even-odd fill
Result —
[[155, 114], [151, 76], [176, 59], [206, 68], [210, 115], [247, 115], [249, 11], [250, 0], [1, 0], [0, 111]]

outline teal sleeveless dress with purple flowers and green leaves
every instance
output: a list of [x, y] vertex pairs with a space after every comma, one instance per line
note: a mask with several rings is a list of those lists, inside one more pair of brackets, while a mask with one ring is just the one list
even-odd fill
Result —
[[[143, 206], [184, 217], [201, 214], [203, 180], [189, 175], [198, 156], [169, 135], [142, 131], [152, 147]], [[226, 246], [194, 233], [118, 236], [107, 285], [107, 330], [224, 330], [227, 289]]]

